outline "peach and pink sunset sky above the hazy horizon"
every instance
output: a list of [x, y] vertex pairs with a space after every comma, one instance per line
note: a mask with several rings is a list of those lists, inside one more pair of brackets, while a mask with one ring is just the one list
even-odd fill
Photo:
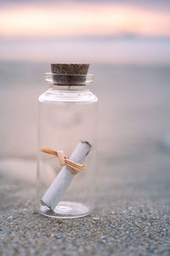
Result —
[[[161, 1], [160, 1], [161, 2]], [[165, 2], [165, 3], [164, 3]], [[85, 37], [138, 34], [170, 36], [170, 10], [125, 1], [7, 1], [0, 8], [0, 36]], [[150, 1], [149, 1], [150, 3]], [[164, 4], [163, 4], [164, 3]], [[168, 5], [168, 4], [167, 4]]]

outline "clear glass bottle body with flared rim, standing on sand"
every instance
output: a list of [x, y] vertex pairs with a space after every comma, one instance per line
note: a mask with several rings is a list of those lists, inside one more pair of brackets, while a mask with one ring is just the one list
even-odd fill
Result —
[[[92, 74], [46, 74], [49, 88], [38, 99], [37, 209], [42, 215], [78, 218], [94, 208], [98, 99], [88, 90], [93, 80]], [[71, 160], [85, 169], [73, 174], [42, 147], [72, 155]]]

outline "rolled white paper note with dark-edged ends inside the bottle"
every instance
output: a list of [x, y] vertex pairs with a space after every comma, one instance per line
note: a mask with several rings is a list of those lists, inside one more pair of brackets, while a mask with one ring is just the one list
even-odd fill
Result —
[[[71, 154], [70, 159], [81, 164], [82, 160], [84, 160], [88, 155], [90, 148], [91, 145], [88, 142], [78, 143], [77, 147]], [[57, 177], [54, 178], [54, 182], [51, 183], [46, 193], [42, 196], [42, 205], [47, 206], [54, 211], [54, 208], [65, 194], [65, 190], [70, 185], [74, 176], [75, 174], [73, 174], [66, 166], [64, 166]]]

